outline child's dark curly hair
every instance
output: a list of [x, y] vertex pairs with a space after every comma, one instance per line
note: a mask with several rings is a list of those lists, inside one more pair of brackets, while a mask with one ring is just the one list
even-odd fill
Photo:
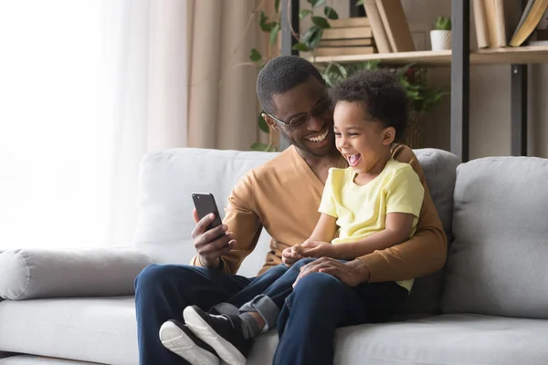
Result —
[[410, 100], [393, 72], [360, 71], [331, 89], [333, 106], [339, 101], [361, 102], [364, 112], [385, 127], [394, 127], [395, 141], [403, 141]]

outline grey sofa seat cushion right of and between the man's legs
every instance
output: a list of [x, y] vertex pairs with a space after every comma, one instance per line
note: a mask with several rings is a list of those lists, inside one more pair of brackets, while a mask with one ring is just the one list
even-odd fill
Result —
[[[430, 318], [339, 328], [335, 364], [543, 365], [548, 321], [482, 315]], [[268, 364], [278, 335], [256, 339], [248, 364]]]

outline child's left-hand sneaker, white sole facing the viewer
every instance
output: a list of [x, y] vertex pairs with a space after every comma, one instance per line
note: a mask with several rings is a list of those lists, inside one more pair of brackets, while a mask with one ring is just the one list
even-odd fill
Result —
[[191, 365], [219, 365], [215, 349], [199, 339], [183, 323], [170, 319], [160, 328], [160, 340], [166, 349], [176, 353]]

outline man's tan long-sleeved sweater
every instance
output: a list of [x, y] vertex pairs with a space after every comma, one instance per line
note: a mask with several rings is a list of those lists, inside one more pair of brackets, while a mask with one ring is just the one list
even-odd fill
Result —
[[[424, 172], [413, 151], [396, 144], [393, 157], [409, 163], [425, 186], [425, 198], [416, 235], [401, 245], [360, 257], [371, 272], [370, 282], [398, 281], [430, 274], [447, 256], [447, 238], [428, 192]], [[248, 172], [228, 197], [224, 223], [233, 232], [237, 247], [221, 259], [224, 270], [235, 274], [243, 259], [257, 245], [264, 227], [272, 237], [266, 262], [258, 275], [281, 263], [281, 252], [300, 245], [311, 235], [320, 213], [323, 183], [291, 146], [276, 158]], [[197, 256], [192, 264], [200, 266]]]

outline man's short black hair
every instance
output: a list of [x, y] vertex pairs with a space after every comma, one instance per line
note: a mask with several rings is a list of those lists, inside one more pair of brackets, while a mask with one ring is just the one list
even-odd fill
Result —
[[318, 69], [303, 57], [279, 56], [271, 59], [260, 70], [257, 78], [257, 96], [262, 109], [275, 113], [272, 96], [289, 91], [311, 77], [325, 84]]

